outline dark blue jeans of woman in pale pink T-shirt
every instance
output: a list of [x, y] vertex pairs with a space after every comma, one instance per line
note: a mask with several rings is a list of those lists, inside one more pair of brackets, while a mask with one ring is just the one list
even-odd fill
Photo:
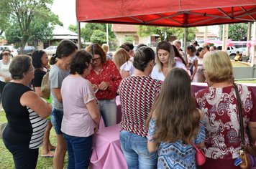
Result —
[[89, 137], [76, 137], [63, 133], [68, 149], [68, 169], [88, 168], [91, 158], [93, 135]]

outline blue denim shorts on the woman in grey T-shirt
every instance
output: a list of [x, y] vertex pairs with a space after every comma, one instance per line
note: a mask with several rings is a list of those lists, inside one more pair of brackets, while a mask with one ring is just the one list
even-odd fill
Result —
[[63, 132], [60, 129], [61, 122], [63, 121], [63, 110], [56, 110], [55, 108], [52, 108], [50, 121], [52, 122], [52, 127], [54, 128], [56, 135], [62, 135]]

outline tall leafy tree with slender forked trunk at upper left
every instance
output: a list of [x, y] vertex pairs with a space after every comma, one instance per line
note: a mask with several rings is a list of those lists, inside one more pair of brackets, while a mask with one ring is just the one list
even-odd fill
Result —
[[19, 24], [22, 34], [22, 41], [19, 43], [21, 53], [24, 53], [24, 46], [35, 31], [37, 22], [33, 19], [46, 19], [52, 14], [48, 6], [52, 0], [1, 0], [1, 3], [8, 3], [12, 9], [12, 19]]

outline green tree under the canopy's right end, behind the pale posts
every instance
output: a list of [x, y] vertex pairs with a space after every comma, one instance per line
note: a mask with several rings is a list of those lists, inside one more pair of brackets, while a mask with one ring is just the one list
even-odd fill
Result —
[[[221, 26], [221, 37], [223, 32], [223, 25]], [[239, 41], [247, 37], [247, 24], [229, 24], [229, 39]]]

